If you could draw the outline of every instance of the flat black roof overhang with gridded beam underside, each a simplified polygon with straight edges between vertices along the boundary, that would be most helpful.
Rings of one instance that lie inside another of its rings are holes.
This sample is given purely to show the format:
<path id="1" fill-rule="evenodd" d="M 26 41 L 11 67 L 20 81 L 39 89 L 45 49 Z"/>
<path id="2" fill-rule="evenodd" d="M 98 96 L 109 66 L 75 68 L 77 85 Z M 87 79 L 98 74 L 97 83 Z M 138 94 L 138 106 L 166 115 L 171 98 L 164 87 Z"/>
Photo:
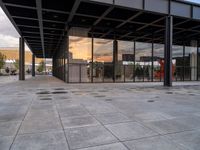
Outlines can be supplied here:
<path id="1" fill-rule="evenodd" d="M 164 43 L 165 16 L 174 16 L 173 42 L 200 39 L 200 5 L 179 0 L 0 0 L 36 57 L 52 58 L 70 28 L 87 36 Z"/>

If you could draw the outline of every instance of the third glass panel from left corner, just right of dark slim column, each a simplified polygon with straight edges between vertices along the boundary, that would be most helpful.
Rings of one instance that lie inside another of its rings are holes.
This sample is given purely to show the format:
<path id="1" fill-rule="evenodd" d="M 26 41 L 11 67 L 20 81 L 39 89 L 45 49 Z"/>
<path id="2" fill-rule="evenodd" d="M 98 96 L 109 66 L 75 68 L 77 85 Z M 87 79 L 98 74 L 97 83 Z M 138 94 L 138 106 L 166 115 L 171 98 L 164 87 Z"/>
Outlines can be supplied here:
<path id="1" fill-rule="evenodd" d="M 118 63 L 116 82 L 133 82 L 134 42 L 118 41 Z"/>

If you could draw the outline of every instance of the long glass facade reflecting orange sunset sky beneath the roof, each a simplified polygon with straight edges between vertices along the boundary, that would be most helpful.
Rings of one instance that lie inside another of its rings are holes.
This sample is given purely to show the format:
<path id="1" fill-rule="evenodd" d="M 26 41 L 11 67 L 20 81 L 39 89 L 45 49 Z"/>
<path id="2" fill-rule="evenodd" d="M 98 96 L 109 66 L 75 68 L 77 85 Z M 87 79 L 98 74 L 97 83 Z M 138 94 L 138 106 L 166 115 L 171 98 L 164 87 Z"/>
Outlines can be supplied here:
<path id="1" fill-rule="evenodd" d="M 57 53 L 54 74 L 69 83 L 161 82 L 164 44 L 69 36 Z M 69 44 L 67 44 L 69 43 Z M 65 51 L 65 55 L 63 55 Z M 66 59 L 64 59 L 66 58 Z M 64 69 L 65 67 L 65 69 Z M 62 74 L 65 74 L 63 77 Z M 173 81 L 200 79 L 200 48 L 173 45 Z"/>

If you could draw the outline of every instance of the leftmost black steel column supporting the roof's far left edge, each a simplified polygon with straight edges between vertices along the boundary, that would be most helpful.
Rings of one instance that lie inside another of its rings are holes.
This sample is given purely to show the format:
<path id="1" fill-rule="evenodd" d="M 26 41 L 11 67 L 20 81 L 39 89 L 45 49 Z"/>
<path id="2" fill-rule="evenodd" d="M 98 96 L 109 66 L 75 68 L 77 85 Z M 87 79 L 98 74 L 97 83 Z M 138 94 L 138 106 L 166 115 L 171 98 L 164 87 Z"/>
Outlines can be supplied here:
<path id="1" fill-rule="evenodd" d="M 24 52 L 24 38 L 19 38 L 19 80 L 25 80 L 25 52 Z"/>

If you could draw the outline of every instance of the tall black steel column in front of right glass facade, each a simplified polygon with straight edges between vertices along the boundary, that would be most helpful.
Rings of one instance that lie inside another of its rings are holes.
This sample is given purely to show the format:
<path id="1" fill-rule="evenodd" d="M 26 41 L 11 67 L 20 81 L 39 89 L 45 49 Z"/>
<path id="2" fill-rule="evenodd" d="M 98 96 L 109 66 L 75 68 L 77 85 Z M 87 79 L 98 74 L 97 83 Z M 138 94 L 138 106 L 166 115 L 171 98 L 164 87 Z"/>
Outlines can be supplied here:
<path id="1" fill-rule="evenodd" d="M 166 17 L 164 86 L 172 86 L 173 17 Z"/>

